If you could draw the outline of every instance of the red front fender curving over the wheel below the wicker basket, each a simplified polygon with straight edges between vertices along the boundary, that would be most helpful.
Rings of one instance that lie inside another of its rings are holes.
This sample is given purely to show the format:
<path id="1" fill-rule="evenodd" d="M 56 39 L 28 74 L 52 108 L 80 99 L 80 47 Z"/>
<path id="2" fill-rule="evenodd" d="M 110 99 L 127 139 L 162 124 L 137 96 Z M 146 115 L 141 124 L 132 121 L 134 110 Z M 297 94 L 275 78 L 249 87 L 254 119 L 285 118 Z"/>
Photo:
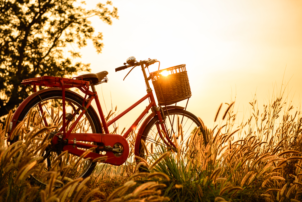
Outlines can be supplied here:
<path id="1" fill-rule="evenodd" d="M 181 106 L 166 106 L 166 107 L 162 107 L 162 110 L 165 112 L 168 109 L 185 109 L 185 107 L 181 107 Z M 134 144 L 134 155 L 139 156 L 140 155 L 140 151 L 139 151 L 139 147 L 140 147 L 140 140 L 142 138 L 142 133 L 145 130 L 147 124 L 149 123 L 149 121 L 151 119 L 153 119 L 154 116 L 156 115 L 156 112 L 152 112 L 149 116 L 147 116 L 147 118 L 143 121 L 142 125 L 140 126 L 140 129 L 138 130 L 136 139 L 135 139 L 135 144 Z M 135 160 L 137 161 L 138 159 L 135 158 Z"/>

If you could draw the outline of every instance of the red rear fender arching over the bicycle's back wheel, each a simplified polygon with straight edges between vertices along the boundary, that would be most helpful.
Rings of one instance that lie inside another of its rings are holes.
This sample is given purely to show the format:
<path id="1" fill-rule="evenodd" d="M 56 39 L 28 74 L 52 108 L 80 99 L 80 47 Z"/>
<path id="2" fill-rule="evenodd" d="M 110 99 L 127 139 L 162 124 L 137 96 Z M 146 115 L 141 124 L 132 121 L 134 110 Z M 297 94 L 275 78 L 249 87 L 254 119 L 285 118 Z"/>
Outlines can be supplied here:
<path id="1" fill-rule="evenodd" d="M 27 106 L 27 104 L 31 101 L 31 99 L 34 99 L 35 97 L 40 96 L 40 94 L 42 94 L 42 93 L 49 92 L 49 91 L 58 91 L 58 90 L 62 90 L 62 88 L 47 88 L 47 89 L 39 90 L 39 91 L 31 94 L 30 96 L 28 96 L 26 99 L 23 100 L 23 102 L 18 106 L 18 108 L 14 112 L 14 115 L 11 117 L 11 122 L 10 122 L 9 130 L 8 130 L 8 138 L 7 138 L 8 141 L 11 141 L 11 138 L 10 138 L 11 132 L 13 132 L 14 129 L 16 128 L 17 121 L 18 121 L 18 118 L 19 118 L 21 112 Z M 84 99 L 82 96 L 80 96 L 79 94 L 77 94 L 77 93 L 75 93 L 71 90 L 65 89 L 65 92 L 69 92 L 69 93 L 71 93 L 75 96 L 79 96 L 82 99 Z M 93 109 L 93 110 L 95 111 L 95 109 Z M 99 117 L 98 117 L 98 121 L 100 122 Z"/>

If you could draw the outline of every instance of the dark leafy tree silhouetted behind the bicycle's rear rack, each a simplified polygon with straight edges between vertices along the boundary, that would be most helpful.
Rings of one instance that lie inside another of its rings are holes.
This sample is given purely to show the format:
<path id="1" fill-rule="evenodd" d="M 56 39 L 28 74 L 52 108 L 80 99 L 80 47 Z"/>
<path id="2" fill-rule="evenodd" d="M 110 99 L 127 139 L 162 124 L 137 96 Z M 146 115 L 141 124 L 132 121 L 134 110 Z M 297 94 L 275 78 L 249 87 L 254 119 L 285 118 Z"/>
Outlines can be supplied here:
<path id="1" fill-rule="evenodd" d="M 0 0 L 0 117 L 31 93 L 21 85 L 23 79 L 89 71 L 89 64 L 72 63 L 79 53 L 64 57 L 64 47 L 83 47 L 92 40 L 101 53 L 102 33 L 95 34 L 88 18 L 98 16 L 112 24 L 111 18 L 118 16 L 117 8 L 108 9 L 110 1 L 92 10 L 83 5 L 76 0 Z"/>

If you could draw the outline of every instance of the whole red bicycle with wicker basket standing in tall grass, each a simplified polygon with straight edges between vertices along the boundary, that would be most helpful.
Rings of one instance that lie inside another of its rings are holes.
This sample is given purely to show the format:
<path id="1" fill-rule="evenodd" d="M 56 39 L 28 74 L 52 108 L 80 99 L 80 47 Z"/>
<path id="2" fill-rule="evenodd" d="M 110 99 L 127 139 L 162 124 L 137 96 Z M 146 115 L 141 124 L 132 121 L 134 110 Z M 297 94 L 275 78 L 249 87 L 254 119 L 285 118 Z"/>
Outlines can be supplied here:
<path id="1" fill-rule="evenodd" d="M 188 99 L 191 96 L 191 91 L 179 96 L 176 92 L 177 89 L 174 90 L 175 92 L 171 90 L 171 87 L 170 90 L 169 88 L 165 89 L 165 84 L 159 82 L 160 78 L 164 77 L 162 76 L 162 70 L 161 72 L 151 72 L 149 73 L 150 76 L 147 76 L 145 68 L 156 62 L 159 61 L 148 59 L 138 62 L 135 57 L 130 57 L 127 59 L 127 64 L 124 63 L 124 66 L 115 69 L 117 72 L 129 67 L 140 66 L 143 71 L 147 94 L 111 120 L 106 120 L 98 93 L 95 90 L 95 85 L 108 81 L 107 71 L 96 74 L 88 73 L 73 79 L 42 76 L 23 80 L 24 85 L 33 86 L 34 93 L 27 97 L 14 112 L 10 122 L 8 141 L 15 142 L 22 139 L 21 135 L 15 135 L 12 139 L 10 135 L 18 123 L 23 120 L 26 132 L 37 128 L 56 126 L 40 134 L 40 137 L 47 135 L 48 139 L 51 140 L 51 144 L 39 153 L 43 157 L 42 162 L 45 162 L 45 168 L 42 172 L 33 174 L 31 177 L 40 183 L 45 183 L 46 180 L 42 178 L 43 173 L 52 167 L 53 160 L 63 151 L 68 151 L 68 155 L 62 157 L 60 161 L 65 161 L 65 165 L 72 166 L 87 149 L 95 148 L 85 155 L 86 161 L 77 165 L 66 175 L 64 174 L 66 177 L 75 179 L 88 177 L 96 166 L 93 160 L 99 157 L 107 156 L 103 163 L 122 165 L 129 156 L 129 144 L 133 148 L 132 144 L 134 143 L 134 155 L 144 159 L 148 159 L 153 151 L 160 151 L 161 147 L 169 148 L 172 151 L 180 151 L 188 146 L 185 145 L 188 144 L 188 137 L 201 127 L 201 123 L 195 115 L 186 111 L 185 107 L 172 106 L 171 104 Z M 170 75 L 163 78 L 162 82 L 172 80 L 170 83 L 174 84 L 179 82 L 179 78 L 175 80 L 173 75 L 186 74 L 185 65 L 171 67 L 166 70 Z M 149 80 L 153 81 L 155 87 L 158 84 L 159 90 L 156 90 L 156 95 L 159 106 L 156 105 Z M 184 81 L 181 80 L 180 83 L 184 83 Z M 36 86 L 48 88 L 37 91 Z M 70 88 L 79 89 L 85 96 L 80 96 L 78 93 L 69 90 Z M 184 88 L 188 90 L 190 87 L 185 86 Z M 172 93 L 172 99 L 164 95 L 165 91 Z M 176 95 L 176 98 L 173 98 L 174 95 Z M 140 116 L 123 135 L 110 133 L 108 126 L 114 124 L 120 117 L 146 99 L 149 99 L 149 105 L 143 109 Z M 96 103 L 97 110 L 91 106 L 93 100 Z M 150 110 L 151 113 L 146 116 Z M 141 122 L 144 117 L 144 121 Z M 134 135 L 133 131 L 138 125 L 140 127 Z M 58 175 L 58 179 L 60 179 L 61 174 L 58 173 Z"/>

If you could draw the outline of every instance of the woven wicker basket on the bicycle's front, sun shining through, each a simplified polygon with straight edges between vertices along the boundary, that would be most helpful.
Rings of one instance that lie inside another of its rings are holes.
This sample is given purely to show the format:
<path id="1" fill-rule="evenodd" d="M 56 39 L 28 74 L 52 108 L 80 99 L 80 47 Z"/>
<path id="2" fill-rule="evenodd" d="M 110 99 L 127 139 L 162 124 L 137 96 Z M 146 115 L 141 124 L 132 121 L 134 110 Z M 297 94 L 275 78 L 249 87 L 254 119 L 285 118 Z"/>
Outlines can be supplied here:
<path id="1" fill-rule="evenodd" d="M 181 64 L 151 72 L 151 79 L 159 105 L 172 105 L 192 96 L 186 65 Z M 168 76 L 161 73 L 168 71 Z"/>

